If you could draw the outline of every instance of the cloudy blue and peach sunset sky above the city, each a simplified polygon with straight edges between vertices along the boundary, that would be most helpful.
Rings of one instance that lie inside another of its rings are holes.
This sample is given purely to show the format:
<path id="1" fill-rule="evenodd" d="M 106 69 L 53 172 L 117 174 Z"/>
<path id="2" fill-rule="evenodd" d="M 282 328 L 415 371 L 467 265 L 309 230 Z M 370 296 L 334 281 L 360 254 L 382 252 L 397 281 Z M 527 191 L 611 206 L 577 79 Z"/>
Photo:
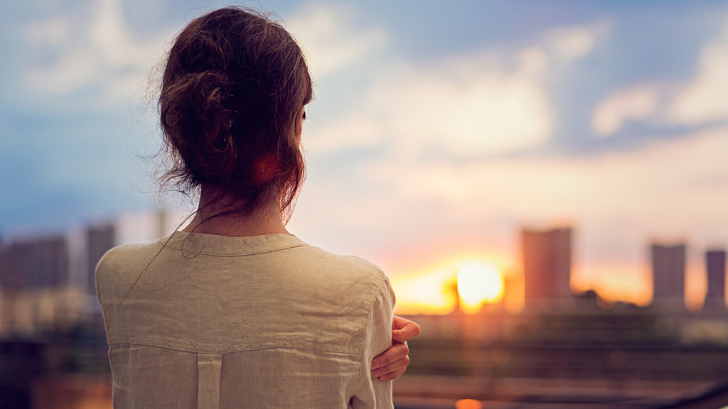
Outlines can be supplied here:
<path id="1" fill-rule="evenodd" d="M 1 237 L 191 209 L 154 186 L 154 81 L 175 33 L 228 4 L 0 4 Z M 728 246 L 728 2 L 245 5 L 314 77 L 293 234 L 434 312 L 468 263 L 518 282 L 523 227 L 572 226 L 572 289 L 642 305 L 649 242 L 684 241 L 702 302 L 703 253 Z"/>

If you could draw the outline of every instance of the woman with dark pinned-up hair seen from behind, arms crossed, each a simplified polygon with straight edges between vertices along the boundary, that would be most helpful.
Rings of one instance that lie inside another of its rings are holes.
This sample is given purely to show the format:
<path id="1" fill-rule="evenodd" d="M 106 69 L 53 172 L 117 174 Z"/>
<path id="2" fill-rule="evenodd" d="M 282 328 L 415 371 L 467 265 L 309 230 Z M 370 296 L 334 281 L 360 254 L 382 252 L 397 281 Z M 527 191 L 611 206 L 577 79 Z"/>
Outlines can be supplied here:
<path id="1" fill-rule="evenodd" d="M 163 180 L 199 188 L 199 207 L 183 231 L 98 264 L 114 408 L 392 407 L 419 327 L 392 325 L 379 268 L 285 229 L 311 98 L 301 49 L 256 12 L 218 9 L 178 34 Z"/>

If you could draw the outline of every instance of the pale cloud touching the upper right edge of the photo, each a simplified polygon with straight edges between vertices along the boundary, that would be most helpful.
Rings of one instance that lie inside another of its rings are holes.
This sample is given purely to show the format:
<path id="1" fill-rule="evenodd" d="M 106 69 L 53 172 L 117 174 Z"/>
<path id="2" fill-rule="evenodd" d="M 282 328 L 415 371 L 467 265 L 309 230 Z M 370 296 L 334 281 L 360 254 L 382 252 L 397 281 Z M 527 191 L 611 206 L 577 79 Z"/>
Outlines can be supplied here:
<path id="1" fill-rule="evenodd" d="M 728 120 L 728 20 L 716 39 L 700 52 L 695 76 L 670 103 L 673 121 L 695 125 Z"/>

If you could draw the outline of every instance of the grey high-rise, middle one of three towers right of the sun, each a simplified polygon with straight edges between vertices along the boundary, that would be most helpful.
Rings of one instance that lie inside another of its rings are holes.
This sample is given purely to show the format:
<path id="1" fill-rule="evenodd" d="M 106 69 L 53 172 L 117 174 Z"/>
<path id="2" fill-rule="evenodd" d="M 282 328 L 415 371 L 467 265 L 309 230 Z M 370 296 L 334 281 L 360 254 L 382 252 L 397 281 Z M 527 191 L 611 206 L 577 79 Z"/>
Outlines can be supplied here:
<path id="1" fill-rule="evenodd" d="M 685 244 L 652 243 L 652 303 L 660 308 L 684 309 Z"/>

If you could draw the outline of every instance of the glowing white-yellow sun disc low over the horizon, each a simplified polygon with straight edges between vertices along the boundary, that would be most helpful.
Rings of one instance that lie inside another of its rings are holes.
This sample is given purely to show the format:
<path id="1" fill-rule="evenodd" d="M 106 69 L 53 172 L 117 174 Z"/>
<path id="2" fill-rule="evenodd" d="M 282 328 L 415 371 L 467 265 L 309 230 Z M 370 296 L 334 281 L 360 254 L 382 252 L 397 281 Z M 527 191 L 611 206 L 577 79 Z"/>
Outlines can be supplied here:
<path id="1" fill-rule="evenodd" d="M 503 295 L 503 277 L 491 264 L 467 264 L 457 274 L 457 291 L 467 306 L 493 303 Z"/>

